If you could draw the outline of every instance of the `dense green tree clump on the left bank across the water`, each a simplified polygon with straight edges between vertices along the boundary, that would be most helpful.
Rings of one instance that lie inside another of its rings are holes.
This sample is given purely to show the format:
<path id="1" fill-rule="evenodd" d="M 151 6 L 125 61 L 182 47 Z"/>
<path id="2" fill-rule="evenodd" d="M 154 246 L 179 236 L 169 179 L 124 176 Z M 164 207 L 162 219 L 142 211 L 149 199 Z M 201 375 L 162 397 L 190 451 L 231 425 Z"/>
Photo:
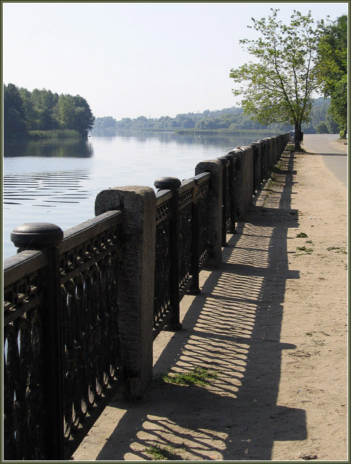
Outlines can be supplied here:
<path id="1" fill-rule="evenodd" d="M 70 129 L 86 136 L 93 128 L 94 120 L 88 103 L 79 95 L 59 96 L 46 89 L 34 89 L 30 92 L 27 89 L 18 89 L 14 84 L 4 86 L 5 137 L 18 137 L 19 134 L 27 136 L 27 131 L 32 133 L 32 137 L 32 131 L 37 131 L 36 136 L 41 137 L 43 134 L 39 134 L 40 131 L 58 129 Z"/>

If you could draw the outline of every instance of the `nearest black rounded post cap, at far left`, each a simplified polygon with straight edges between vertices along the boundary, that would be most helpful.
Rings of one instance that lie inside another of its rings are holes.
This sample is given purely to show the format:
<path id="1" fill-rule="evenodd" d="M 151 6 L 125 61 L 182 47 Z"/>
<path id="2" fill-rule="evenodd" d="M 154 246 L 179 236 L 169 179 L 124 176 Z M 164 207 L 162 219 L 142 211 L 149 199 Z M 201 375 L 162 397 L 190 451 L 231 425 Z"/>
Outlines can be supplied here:
<path id="1" fill-rule="evenodd" d="M 11 242 L 21 250 L 47 250 L 57 246 L 62 238 L 62 228 L 49 222 L 29 222 L 11 232 Z"/>

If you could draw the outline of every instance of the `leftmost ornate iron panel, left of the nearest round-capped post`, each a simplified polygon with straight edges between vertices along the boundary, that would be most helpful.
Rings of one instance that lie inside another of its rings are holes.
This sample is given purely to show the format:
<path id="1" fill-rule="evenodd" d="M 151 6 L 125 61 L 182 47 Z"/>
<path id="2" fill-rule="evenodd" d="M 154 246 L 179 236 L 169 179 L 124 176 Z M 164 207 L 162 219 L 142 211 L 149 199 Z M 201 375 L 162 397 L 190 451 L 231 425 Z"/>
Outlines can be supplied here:
<path id="1" fill-rule="evenodd" d="M 43 312 L 46 259 L 23 252 L 4 262 L 4 458 L 45 456 Z M 49 407 L 49 406 L 48 406 Z"/>

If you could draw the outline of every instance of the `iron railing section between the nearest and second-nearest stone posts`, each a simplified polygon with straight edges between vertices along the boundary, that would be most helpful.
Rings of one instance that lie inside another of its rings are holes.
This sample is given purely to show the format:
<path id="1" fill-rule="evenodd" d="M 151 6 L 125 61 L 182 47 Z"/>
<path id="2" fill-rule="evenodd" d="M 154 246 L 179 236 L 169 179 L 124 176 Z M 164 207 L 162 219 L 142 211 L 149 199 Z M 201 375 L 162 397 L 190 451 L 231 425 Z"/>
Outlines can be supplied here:
<path id="1" fill-rule="evenodd" d="M 208 256 L 206 211 L 211 174 L 155 181 L 157 193 L 154 338 L 166 327 L 181 328 L 179 304 L 199 291 L 199 272 Z"/>

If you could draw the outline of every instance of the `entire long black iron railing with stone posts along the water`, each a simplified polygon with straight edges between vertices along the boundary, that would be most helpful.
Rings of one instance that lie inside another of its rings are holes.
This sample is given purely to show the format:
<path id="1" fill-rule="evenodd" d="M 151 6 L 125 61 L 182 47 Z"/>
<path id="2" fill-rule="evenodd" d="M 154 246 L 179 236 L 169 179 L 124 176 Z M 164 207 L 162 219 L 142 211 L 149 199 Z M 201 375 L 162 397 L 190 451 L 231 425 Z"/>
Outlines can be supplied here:
<path id="1" fill-rule="evenodd" d="M 4 457 L 72 456 L 121 385 L 131 397 L 152 376 L 152 342 L 179 330 L 179 304 L 199 273 L 221 262 L 289 134 L 199 163 L 159 189 L 112 188 L 97 217 L 62 233 L 23 225 L 4 262 Z"/>

